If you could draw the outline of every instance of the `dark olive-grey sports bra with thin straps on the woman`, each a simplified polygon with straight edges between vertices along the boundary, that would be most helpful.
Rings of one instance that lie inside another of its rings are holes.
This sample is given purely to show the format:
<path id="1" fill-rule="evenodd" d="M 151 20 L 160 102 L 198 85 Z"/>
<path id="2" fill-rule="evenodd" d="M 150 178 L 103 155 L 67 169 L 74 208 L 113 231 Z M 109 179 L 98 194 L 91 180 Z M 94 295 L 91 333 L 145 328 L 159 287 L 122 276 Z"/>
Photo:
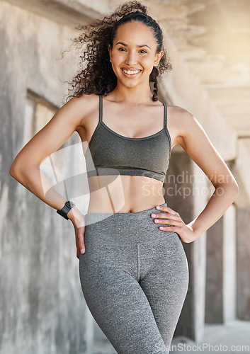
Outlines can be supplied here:
<path id="1" fill-rule="evenodd" d="M 103 96 L 99 96 L 99 121 L 86 149 L 87 176 L 147 176 L 164 182 L 171 155 L 171 137 L 166 126 L 147 137 L 124 137 L 103 122 Z"/>

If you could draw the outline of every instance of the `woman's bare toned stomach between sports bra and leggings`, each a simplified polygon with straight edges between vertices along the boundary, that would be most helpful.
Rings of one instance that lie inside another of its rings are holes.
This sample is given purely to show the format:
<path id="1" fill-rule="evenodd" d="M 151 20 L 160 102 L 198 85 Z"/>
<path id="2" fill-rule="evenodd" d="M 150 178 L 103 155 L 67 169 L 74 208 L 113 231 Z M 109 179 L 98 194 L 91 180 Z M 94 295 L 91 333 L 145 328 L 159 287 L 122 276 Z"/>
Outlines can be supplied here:
<path id="1" fill-rule="evenodd" d="M 165 202 L 163 183 L 145 176 L 91 176 L 89 212 L 140 212 Z"/>

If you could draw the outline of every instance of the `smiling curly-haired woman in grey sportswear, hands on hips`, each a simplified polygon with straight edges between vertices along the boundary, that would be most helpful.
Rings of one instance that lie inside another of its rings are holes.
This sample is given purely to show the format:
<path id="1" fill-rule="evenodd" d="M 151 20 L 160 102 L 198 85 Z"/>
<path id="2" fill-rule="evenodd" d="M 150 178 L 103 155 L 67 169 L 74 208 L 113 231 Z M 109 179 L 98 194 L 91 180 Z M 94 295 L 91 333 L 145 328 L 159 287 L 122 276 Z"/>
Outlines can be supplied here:
<path id="1" fill-rule="evenodd" d="M 146 6 L 125 3 L 79 29 L 84 34 L 76 42 L 88 45 L 87 66 L 73 80 L 76 92 L 23 147 L 10 173 L 72 221 L 86 304 L 115 350 L 169 353 L 188 290 L 181 240 L 190 243 L 211 227 L 234 202 L 238 186 L 193 115 L 158 101 L 157 76 L 171 64 Z M 48 184 L 39 169 L 74 131 L 89 145 L 85 216 L 57 192 L 53 200 L 45 197 L 42 184 Z M 215 186 L 189 224 L 162 195 L 176 144 Z"/>

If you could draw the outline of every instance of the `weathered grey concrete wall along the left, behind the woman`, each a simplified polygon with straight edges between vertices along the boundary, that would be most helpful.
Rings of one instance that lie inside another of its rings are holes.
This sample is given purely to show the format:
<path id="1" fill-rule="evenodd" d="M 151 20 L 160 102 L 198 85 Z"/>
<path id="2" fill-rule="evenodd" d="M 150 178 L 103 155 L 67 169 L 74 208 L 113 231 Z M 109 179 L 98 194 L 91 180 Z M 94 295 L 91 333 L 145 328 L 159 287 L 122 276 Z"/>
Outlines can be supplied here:
<path id="1" fill-rule="evenodd" d="M 76 64 L 70 53 L 58 59 L 71 35 L 67 26 L 0 2 L 1 354 L 85 353 L 74 228 L 8 172 L 25 140 L 27 90 L 62 105 L 62 81 Z M 75 142 L 76 133 L 69 145 Z"/>

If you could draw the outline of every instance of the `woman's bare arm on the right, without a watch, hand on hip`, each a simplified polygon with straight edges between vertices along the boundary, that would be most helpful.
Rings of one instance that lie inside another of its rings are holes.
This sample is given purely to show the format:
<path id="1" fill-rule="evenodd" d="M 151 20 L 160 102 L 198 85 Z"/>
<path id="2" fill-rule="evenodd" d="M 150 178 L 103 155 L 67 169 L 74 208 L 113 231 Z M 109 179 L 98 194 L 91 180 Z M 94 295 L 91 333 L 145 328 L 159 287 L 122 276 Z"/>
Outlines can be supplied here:
<path id="1" fill-rule="evenodd" d="M 206 207 L 189 224 L 185 224 L 178 212 L 170 207 L 159 209 L 166 212 L 166 214 L 159 214 L 164 219 L 166 218 L 166 221 L 160 220 L 160 223 L 173 225 L 172 227 L 163 227 L 163 229 L 177 232 L 184 242 L 189 243 L 198 239 L 203 232 L 222 217 L 237 198 L 239 187 L 227 164 L 210 142 L 198 120 L 183 108 L 181 108 L 178 120 L 181 126 L 178 143 L 191 156 L 195 164 L 203 170 L 215 187 Z M 157 215 L 157 217 L 160 216 Z"/>

